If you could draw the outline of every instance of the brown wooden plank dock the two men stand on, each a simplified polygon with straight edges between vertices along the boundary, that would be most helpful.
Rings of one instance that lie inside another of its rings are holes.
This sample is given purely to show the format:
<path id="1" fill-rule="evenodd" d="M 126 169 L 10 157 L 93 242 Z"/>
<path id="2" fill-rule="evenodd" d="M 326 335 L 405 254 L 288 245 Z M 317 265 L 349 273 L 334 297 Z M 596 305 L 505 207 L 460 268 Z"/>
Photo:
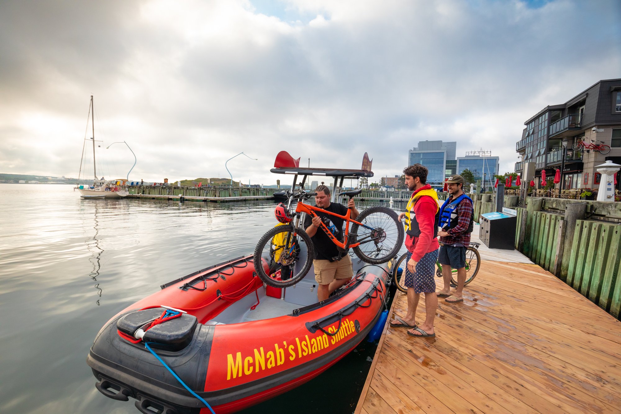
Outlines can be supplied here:
<path id="1" fill-rule="evenodd" d="M 464 293 L 436 338 L 387 325 L 356 413 L 621 411 L 620 321 L 533 264 L 483 260 Z M 406 309 L 398 293 L 391 318 Z"/>

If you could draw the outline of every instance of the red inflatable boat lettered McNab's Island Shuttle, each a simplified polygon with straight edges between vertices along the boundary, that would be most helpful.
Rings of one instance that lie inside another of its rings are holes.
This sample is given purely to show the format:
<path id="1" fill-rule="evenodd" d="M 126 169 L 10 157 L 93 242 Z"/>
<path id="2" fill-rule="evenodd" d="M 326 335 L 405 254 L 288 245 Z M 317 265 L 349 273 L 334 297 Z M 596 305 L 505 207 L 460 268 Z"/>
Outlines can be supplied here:
<path id="1" fill-rule="evenodd" d="M 392 261 L 352 261 L 355 277 L 321 303 L 312 270 L 292 287 L 265 287 L 252 256 L 162 285 L 97 334 L 87 358 L 96 387 L 135 398 L 143 413 L 210 413 L 145 343 L 217 414 L 297 387 L 353 350 L 384 310 Z"/>

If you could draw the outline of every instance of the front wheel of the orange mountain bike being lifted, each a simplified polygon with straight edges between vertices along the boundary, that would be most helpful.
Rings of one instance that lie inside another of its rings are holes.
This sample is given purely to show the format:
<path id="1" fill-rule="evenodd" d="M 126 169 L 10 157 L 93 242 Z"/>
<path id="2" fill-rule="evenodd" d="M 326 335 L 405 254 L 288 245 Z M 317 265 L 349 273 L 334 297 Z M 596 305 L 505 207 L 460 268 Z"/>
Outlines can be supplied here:
<path id="1" fill-rule="evenodd" d="M 256 274 L 273 287 L 295 285 L 311 270 L 313 249 L 311 237 L 304 230 L 290 224 L 276 226 L 263 234 L 255 247 Z"/>

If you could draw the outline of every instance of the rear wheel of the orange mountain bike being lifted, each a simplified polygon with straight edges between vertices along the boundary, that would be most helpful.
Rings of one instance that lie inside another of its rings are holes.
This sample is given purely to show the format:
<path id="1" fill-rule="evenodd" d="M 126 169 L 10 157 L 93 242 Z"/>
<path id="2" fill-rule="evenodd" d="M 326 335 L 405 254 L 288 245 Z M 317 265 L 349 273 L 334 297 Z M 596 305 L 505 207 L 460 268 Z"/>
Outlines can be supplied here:
<path id="1" fill-rule="evenodd" d="M 368 220 L 365 223 L 365 220 Z M 361 241 L 353 248 L 356 256 L 370 264 L 386 263 L 397 255 L 403 244 L 403 225 L 394 210 L 375 206 L 365 209 L 356 221 L 366 224 L 371 230 L 354 224 L 351 226 L 351 244 Z"/>

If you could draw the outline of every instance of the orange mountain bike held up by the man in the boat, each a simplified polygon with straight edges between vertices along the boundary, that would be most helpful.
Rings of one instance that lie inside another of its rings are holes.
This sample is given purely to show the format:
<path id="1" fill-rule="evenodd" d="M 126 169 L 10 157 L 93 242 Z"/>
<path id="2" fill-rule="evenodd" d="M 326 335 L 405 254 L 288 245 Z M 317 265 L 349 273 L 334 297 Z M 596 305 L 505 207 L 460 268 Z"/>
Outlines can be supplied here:
<path id="1" fill-rule="evenodd" d="M 345 191 L 339 195 L 351 199 L 361 191 Z M 337 246 L 341 256 L 347 254 L 351 247 L 364 262 L 381 264 L 388 262 L 399 252 L 403 243 L 404 228 L 399 216 L 392 209 L 381 206 L 367 208 L 360 213 L 357 220 L 354 220 L 351 219 L 349 208 L 347 214 L 341 216 L 302 202 L 315 195 L 317 193 L 286 191 L 287 205 L 276 207 L 276 217 L 282 224 L 263 234 L 256 245 L 254 255 L 256 274 L 268 285 L 273 287 L 294 285 L 311 269 L 314 247 L 311 237 L 304 231 L 303 214 L 309 214 L 312 218 L 317 216 L 315 211 L 320 211 L 345 221 L 342 241 L 337 239 L 323 221 L 317 229 L 327 234 L 330 241 Z M 296 211 L 289 213 L 294 201 L 297 201 Z M 264 260 L 268 264 L 267 271 L 263 266 Z"/>

